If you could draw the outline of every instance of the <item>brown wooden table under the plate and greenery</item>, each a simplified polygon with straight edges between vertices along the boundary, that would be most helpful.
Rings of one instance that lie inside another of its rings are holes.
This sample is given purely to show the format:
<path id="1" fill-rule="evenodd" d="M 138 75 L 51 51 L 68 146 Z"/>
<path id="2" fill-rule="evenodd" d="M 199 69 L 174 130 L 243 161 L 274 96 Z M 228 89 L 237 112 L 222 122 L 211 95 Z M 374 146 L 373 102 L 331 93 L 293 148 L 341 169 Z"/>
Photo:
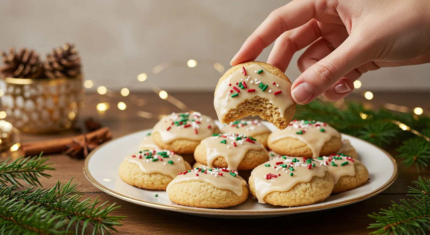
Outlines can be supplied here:
<path id="1" fill-rule="evenodd" d="M 191 109 L 216 118 L 212 104 L 212 92 L 173 95 L 187 104 Z M 125 100 L 127 108 L 123 111 L 118 110 L 116 107 L 116 103 L 120 100 L 110 100 L 103 97 L 102 99 L 105 100 L 101 102 L 111 102 L 110 109 L 100 114 L 95 109 L 96 104 L 100 103 L 100 100 L 94 100 L 94 98 L 98 98 L 97 96 L 97 94 L 87 95 L 86 100 L 89 102 L 83 108 L 80 120 L 88 116 L 93 116 L 104 126 L 111 128 L 114 137 L 126 135 L 141 129 L 152 128 L 157 122 L 156 119 L 144 119 L 137 116 L 137 110 L 157 114 L 169 114 L 180 111 L 172 104 L 166 102 L 166 100 L 161 100 L 155 94 L 142 94 L 138 97 L 129 98 L 134 100 L 143 99 L 143 101 L 139 101 L 140 105 L 144 104 L 143 106 L 138 107 Z M 376 97 L 381 97 L 381 99 L 386 98 L 390 103 L 400 105 L 414 103 L 413 106 L 415 107 L 429 108 L 427 100 L 429 100 L 430 94 L 424 92 L 411 92 L 402 95 L 396 93 L 375 93 L 375 99 Z M 359 99 L 358 96 L 354 95 L 351 95 L 351 98 Z M 381 101 L 375 100 L 373 103 L 381 103 Z M 44 136 L 24 135 L 23 141 L 59 138 L 68 135 L 77 134 L 69 132 Z M 388 150 L 390 151 L 390 149 Z M 390 152 L 393 153 L 393 151 Z M 128 217 L 124 221 L 123 226 L 117 227 L 120 234 L 277 234 L 278 232 L 276 231 L 285 226 L 288 226 L 287 231 L 289 234 L 368 234 L 372 230 L 366 229 L 366 227 L 369 226 L 369 223 L 375 221 L 369 218 L 367 214 L 379 211 L 380 208 L 389 207 L 392 200 L 398 201 L 400 198 L 405 198 L 408 186 L 412 186 L 411 181 L 418 179 L 419 175 L 414 167 L 405 169 L 405 167 L 400 165 L 399 177 L 390 188 L 365 201 L 335 209 L 270 219 L 210 219 L 137 206 L 122 201 L 100 191 L 85 178 L 82 170 L 84 160 L 76 160 L 60 154 L 50 157 L 49 162 L 55 162 L 53 166 L 57 171 L 49 172 L 52 175 L 51 179 L 41 179 L 43 186 L 49 188 L 57 181 L 67 182 L 73 177 L 73 181 L 79 183 L 79 190 L 85 193 L 84 197 L 100 197 L 102 201 L 108 200 L 111 203 L 116 202 L 121 205 L 122 207 L 116 210 L 114 214 L 126 215 Z M 430 178 L 430 168 L 422 171 L 420 175 Z M 330 221 L 336 221 L 336 225 L 331 225 Z"/>

